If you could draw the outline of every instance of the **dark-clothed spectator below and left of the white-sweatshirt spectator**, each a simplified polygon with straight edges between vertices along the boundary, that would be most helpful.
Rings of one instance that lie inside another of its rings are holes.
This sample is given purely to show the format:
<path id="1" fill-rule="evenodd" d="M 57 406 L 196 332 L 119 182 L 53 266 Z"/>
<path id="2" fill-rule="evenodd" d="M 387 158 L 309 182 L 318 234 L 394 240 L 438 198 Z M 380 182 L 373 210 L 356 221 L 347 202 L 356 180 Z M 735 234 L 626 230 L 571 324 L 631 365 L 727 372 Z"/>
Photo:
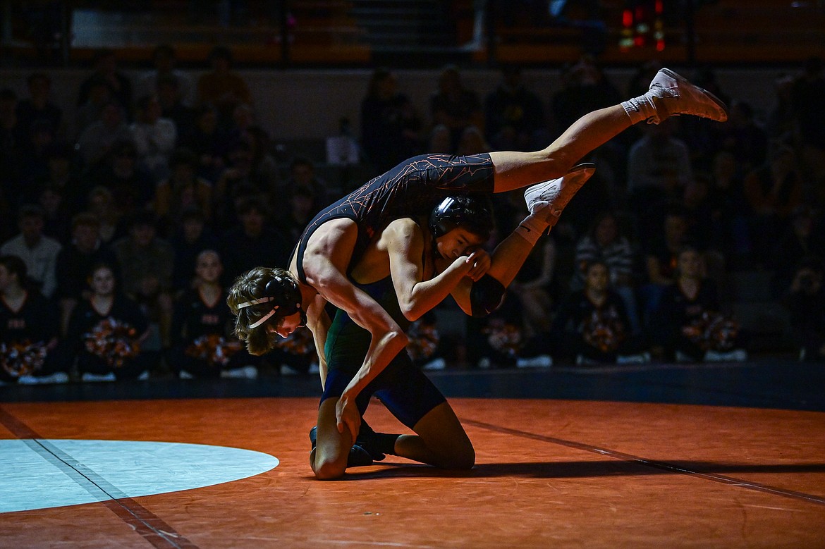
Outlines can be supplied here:
<path id="1" fill-rule="evenodd" d="M 120 215 L 147 209 L 155 195 L 155 182 L 138 164 L 138 151 L 131 139 L 123 139 L 111 146 L 105 162 L 101 162 L 89 175 L 93 185 L 111 190 L 115 208 Z"/>

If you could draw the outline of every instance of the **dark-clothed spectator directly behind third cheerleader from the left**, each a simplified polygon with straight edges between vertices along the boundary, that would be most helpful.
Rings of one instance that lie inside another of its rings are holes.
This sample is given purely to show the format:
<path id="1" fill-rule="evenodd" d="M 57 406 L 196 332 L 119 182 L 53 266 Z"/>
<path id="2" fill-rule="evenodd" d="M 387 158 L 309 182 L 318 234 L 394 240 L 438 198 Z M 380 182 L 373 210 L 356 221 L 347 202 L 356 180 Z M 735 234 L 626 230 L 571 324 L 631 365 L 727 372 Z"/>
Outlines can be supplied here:
<path id="1" fill-rule="evenodd" d="M 175 266 L 172 269 L 172 289 L 176 295 L 194 287 L 192 278 L 198 254 L 204 250 L 218 248 L 218 239 L 206 223 L 204 211 L 195 204 L 181 210 L 179 223 L 172 232 L 170 243 L 175 251 Z"/>

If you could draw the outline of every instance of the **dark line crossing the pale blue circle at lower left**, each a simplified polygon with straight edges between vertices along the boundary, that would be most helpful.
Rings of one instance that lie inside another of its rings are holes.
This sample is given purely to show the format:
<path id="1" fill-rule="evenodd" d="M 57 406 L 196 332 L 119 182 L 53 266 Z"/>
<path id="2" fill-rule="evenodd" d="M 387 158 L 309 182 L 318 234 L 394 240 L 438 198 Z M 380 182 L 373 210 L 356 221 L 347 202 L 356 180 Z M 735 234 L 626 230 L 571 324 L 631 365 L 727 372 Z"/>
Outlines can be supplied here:
<path id="1" fill-rule="evenodd" d="M 80 476 L 88 483 L 97 487 L 98 490 L 110 495 L 111 500 L 104 500 L 100 503 L 106 505 L 106 508 L 111 510 L 115 516 L 134 528 L 134 531 L 143 536 L 153 547 L 158 547 L 158 549 L 168 549 L 169 547 L 173 547 L 174 549 L 197 549 L 198 546 L 186 537 L 181 536 L 181 534 L 177 533 L 174 528 L 165 523 L 158 515 L 153 514 L 152 511 L 146 509 L 137 501 L 127 496 L 115 498 L 114 495 L 111 495 L 111 491 L 117 490 L 114 486 L 111 486 L 114 490 L 106 490 L 103 486 L 100 486 L 102 479 L 101 481 L 92 481 L 87 472 L 79 471 L 78 468 L 73 467 L 65 459 L 60 458 L 59 455 L 57 455 L 57 453 L 60 453 L 57 448 L 46 443 L 40 434 L 37 434 L 34 429 L 31 429 L 31 427 L 23 423 L 15 415 L 4 410 L 2 406 L 0 406 L 0 424 L 18 439 L 33 439 L 33 442 L 36 444 L 30 445 L 30 448 L 40 453 L 40 455 L 48 461 L 53 462 L 64 472 L 67 470 L 73 472 L 72 475 L 69 475 L 73 481 L 78 482 L 77 477 Z M 82 482 L 78 482 L 78 484 L 82 484 Z"/>

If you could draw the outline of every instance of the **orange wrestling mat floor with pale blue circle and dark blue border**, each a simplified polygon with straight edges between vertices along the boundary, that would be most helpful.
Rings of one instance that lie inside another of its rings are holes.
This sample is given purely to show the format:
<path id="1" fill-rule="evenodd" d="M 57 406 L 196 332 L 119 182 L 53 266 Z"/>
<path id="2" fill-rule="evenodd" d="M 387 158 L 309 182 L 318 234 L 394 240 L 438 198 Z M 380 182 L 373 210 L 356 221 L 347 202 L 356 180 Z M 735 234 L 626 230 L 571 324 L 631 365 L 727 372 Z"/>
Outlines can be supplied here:
<path id="1" fill-rule="evenodd" d="M 821 364 L 431 377 L 471 472 L 315 481 L 309 376 L 0 387 L 0 547 L 825 547 Z"/>

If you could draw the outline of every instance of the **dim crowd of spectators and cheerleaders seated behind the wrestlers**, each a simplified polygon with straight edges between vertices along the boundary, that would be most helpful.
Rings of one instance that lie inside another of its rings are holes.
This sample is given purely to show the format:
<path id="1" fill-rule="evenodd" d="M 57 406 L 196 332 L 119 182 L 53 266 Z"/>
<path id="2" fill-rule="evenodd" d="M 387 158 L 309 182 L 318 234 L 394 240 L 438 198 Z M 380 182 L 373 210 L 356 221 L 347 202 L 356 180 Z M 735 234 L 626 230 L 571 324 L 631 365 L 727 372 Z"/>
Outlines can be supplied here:
<path id="1" fill-rule="evenodd" d="M 224 292 L 249 268 L 285 265 L 304 224 L 338 198 L 314 174 L 323 159 L 276 161 L 229 49 L 199 78 L 169 46 L 153 63 L 133 79 L 101 51 L 75 91 L 71 135 L 48 73 L 31 73 L 27 96 L 0 90 L 0 382 L 255 377 L 262 364 L 314 362 L 300 331 L 275 354 L 246 354 Z M 639 95 L 657 69 L 620 90 L 585 56 L 544 101 L 517 67 L 481 96 L 450 66 L 423 113 L 376 69 L 362 162 L 378 175 L 423 152 L 544 148 L 578 116 Z M 747 333 L 724 284 L 741 269 L 771 273 L 801 355 L 825 358 L 822 61 L 778 79 L 764 120 L 712 71 L 695 76 L 728 102 L 728 123 L 640 124 L 593 152 L 596 175 L 499 311 L 468 319 L 467 345 L 450 346 L 465 352 L 450 355 L 428 317 L 422 364 L 742 359 Z M 496 234 L 508 234 L 521 193 L 493 199 Z"/>

